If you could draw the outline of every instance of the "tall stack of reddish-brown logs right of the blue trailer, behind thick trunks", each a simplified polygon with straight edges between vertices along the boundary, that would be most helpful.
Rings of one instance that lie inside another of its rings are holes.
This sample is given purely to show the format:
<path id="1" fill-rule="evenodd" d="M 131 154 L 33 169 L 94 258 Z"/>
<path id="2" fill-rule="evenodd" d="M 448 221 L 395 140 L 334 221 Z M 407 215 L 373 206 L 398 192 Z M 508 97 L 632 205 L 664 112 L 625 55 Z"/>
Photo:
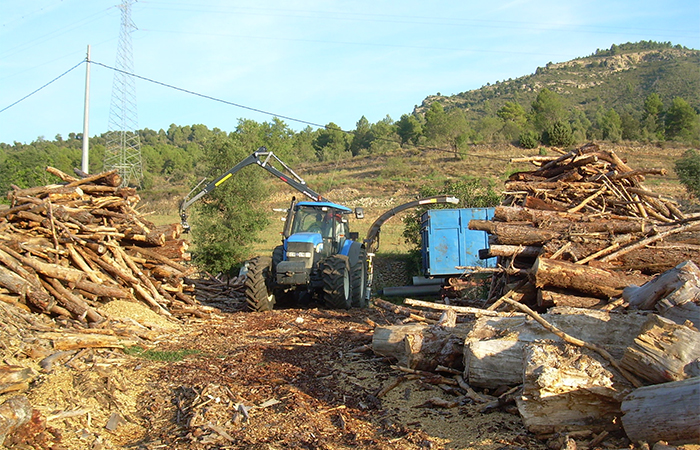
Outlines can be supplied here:
<path id="1" fill-rule="evenodd" d="M 509 297 L 540 309 L 602 307 L 625 287 L 692 260 L 700 263 L 700 217 L 642 185 L 645 174 L 614 152 L 588 144 L 530 172 L 513 174 L 486 231 L 501 276 L 490 300 Z"/>

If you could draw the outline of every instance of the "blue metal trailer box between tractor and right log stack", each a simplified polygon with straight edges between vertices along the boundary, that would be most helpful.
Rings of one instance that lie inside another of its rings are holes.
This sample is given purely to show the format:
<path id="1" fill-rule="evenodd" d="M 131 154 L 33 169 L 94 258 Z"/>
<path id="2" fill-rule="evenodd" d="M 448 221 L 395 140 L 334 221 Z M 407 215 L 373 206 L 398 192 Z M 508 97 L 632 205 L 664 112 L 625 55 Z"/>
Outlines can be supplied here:
<path id="1" fill-rule="evenodd" d="M 495 267 L 496 258 L 480 259 L 489 248 L 485 231 L 470 230 L 472 219 L 491 220 L 494 208 L 431 209 L 421 217 L 423 274 L 458 276 L 456 267 Z"/>

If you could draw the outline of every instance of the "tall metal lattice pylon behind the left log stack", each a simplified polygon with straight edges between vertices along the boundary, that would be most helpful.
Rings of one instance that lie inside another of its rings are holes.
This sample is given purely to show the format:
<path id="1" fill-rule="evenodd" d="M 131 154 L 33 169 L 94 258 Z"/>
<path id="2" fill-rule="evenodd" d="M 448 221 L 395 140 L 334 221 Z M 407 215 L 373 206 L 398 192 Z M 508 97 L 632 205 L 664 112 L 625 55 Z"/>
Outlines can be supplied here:
<path id="1" fill-rule="evenodd" d="M 134 86 L 134 59 L 131 32 L 136 29 L 131 20 L 131 4 L 124 0 L 119 46 L 117 48 L 117 71 L 112 83 L 112 102 L 109 108 L 109 131 L 105 148 L 105 170 L 116 169 L 122 177 L 122 185 L 141 183 L 141 142 L 137 134 L 136 88 Z"/>

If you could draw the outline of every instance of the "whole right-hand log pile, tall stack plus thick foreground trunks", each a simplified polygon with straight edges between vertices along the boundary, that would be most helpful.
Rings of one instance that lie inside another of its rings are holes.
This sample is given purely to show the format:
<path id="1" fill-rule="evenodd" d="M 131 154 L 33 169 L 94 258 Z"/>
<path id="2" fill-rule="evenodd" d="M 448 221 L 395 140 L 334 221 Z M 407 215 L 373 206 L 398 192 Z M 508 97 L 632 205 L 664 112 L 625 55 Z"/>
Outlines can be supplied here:
<path id="1" fill-rule="evenodd" d="M 663 171 L 595 144 L 537 163 L 506 182 L 493 220 L 469 223 L 489 235 L 480 256 L 498 258 L 488 299 L 407 299 L 458 320 L 402 306 L 412 319 L 378 327 L 374 351 L 455 371 L 462 395 L 508 392 L 497 406 L 514 402 L 531 432 L 567 448 L 620 430 L 633 444 L 700 443 L 700 215 L 642 185 Z"/>

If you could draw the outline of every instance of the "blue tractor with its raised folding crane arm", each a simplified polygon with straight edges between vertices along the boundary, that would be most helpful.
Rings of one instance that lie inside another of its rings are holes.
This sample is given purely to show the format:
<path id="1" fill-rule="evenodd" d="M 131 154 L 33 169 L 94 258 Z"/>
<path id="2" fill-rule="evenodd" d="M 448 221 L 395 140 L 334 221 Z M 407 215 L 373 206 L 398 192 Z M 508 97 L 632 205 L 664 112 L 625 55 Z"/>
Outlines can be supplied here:
<path id="1" fill-rule="evenodd" d="M 274 167 L 273 160 L 289 174 Z M 183 200 L 180 217 L 185 231 L 190 228 L 187 208 L 251 164 L 264 168 L 312 201 L 293 199 L 287 210 L 282 244 L 275 247 L 271 256 L 257 256 L 246 262 L 248 309 L 269 311 L 276 303 L 311 300 L 334 309 L 366 307 L 367 253 L 358 233 L 350 232 L 347 220 L 353 213 L 363 218 L 362 209 L 353 211 L 328 201 L 265 147 L 209 183 L 194 197 Z"/>

